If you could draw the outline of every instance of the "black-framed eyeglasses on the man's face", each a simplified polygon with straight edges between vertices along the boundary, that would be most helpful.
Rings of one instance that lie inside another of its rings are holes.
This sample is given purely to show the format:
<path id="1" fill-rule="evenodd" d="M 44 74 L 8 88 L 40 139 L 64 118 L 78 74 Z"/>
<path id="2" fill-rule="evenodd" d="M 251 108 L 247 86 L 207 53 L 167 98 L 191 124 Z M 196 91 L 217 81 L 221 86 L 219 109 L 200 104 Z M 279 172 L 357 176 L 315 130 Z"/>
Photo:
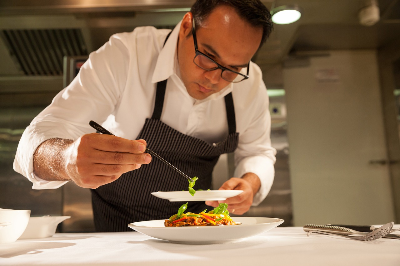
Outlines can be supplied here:
<path id="1" fill-rule="evenodd" d="M 196 66 L 200 67 L 201 69 L 207 70 L 207 71 L 212 71 L 215 69 L 221 69 L 221 77 L 225 79 L 226 81 L 229 82 L 240 82 L 244 79 L 249 78 L 249 66 L 250 62 L 247 65 L 247 73 L 246 75 L 239 73 L 237 71 L 234 71 L 232 69 L 226 68 L 224 66 L 221 66 L 214 60 L 212 60 L 210 57 L 206 56 L 202 52 L 198 50 L 197 47 L 197 38 L 196 38 L 196 29 L 194 28 L 194 18 L 192 18 L 192 23 L 193 23 L 193 28 L 192 28 L 192 35 L 193 35 L 193 42 L 194 42 L 194 51 L 196 52 L 196 55 L 194 56 L 193 63 L 196 64 Z"/>

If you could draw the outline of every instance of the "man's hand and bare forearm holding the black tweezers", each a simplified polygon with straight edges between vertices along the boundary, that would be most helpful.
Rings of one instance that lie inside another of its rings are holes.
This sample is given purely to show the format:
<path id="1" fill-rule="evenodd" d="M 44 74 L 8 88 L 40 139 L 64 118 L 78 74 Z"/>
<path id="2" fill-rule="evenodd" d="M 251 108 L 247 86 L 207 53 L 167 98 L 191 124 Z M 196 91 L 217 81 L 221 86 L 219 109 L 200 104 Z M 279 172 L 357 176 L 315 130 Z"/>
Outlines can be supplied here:
<path id="1" fill-rule="evenodd" d="M 44 180 L 72 180 L 80 187 L 96 189 L 150 163 L 145 149 L 144 140 L 98 133 L 82 135 L 75 141 L 49 139 L 34 154 L 34 173 Z"/>

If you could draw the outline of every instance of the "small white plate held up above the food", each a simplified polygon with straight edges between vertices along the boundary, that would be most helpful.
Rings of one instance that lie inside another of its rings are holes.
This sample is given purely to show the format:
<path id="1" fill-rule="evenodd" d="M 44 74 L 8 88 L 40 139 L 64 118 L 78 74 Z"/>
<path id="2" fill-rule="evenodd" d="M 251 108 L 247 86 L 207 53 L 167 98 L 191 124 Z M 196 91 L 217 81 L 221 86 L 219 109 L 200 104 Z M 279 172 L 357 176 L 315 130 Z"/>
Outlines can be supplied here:
<path id="1" fill-rule="evenodd" d="M 242 193 L 242 190 L 200 190 L 194 195 L 189 191 L 158 191 L 152 192 L 153 196 L 169 201 L 203 201 L 203 200 L 226 200 Z"/>

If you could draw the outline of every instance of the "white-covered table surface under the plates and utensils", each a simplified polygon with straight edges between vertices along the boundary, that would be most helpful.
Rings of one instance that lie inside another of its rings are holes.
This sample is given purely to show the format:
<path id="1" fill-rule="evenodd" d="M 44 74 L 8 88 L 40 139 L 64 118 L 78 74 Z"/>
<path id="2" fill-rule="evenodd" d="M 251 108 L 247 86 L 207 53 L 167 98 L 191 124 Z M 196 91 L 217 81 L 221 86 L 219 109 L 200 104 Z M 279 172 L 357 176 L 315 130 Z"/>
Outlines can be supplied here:
<path id="1" fill-rule="evenodd" d="M 394 226 L 399 228 L 400 225 Z M 189 236 L 190 237 L 190 236 Z M 174 244 L 139 232 L 58 233 L 0 244 L 0 265 L 400 265 L 400 240 L 360 241 L 277 227 L 226 244 Z"/>

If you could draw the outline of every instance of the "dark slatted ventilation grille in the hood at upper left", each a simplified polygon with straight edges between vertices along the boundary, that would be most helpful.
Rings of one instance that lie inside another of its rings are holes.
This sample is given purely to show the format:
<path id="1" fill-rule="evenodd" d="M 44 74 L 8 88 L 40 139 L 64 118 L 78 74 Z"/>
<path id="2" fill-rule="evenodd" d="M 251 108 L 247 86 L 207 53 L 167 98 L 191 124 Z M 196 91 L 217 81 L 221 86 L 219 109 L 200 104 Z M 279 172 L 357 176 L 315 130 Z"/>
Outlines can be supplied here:
<path id="1" fill-rule="evenodd" d="M 86 56 L 80 29 L 2 30 L 22 75 L 62 75 L 64 56 Z"/>

